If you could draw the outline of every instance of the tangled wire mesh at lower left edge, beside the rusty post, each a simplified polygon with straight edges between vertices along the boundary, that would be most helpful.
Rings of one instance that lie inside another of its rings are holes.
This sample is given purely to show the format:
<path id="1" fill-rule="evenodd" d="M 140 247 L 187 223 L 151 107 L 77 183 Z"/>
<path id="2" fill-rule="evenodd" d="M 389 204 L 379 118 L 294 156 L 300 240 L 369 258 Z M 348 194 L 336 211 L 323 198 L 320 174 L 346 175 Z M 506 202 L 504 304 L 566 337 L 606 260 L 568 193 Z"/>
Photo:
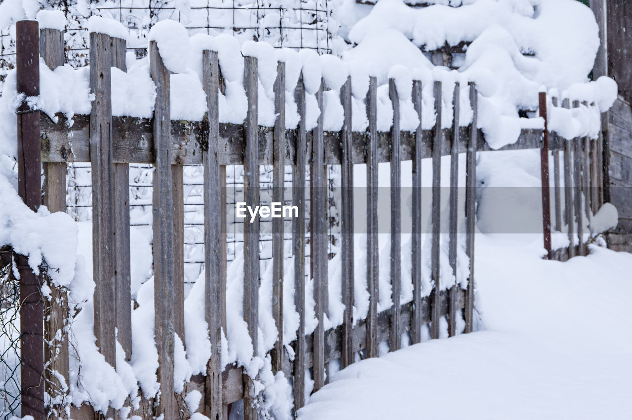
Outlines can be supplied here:
<path id="1" fill-rule="evenodd" d="M 0 250 L 0 419 L 20 414 L 20 288 L 11 249 Z"/>

